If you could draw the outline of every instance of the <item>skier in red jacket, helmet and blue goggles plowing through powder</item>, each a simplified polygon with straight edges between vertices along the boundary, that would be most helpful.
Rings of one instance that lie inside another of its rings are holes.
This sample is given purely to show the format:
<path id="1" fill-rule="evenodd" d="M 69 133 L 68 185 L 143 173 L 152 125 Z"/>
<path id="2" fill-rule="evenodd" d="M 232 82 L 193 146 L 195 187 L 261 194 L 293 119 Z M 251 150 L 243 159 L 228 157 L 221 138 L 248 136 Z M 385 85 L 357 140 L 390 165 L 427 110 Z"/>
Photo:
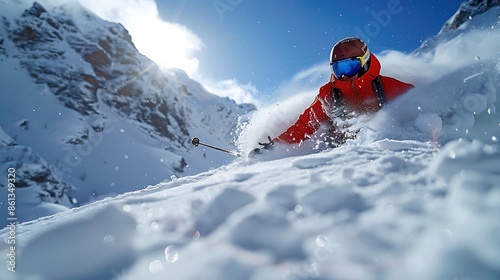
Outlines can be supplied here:
<path id="1" fill-rule="evenodd" d="M 319 89 L 319 94 L 297 121 L 269 143 L 259 143 L 269 149 L 274 143 L 298 144 L 327 126 L 329 142 L 333 146 L 355 138 L 346 133 L 334 119 L 352 114 L 369 114 L 394 100 L 414 86 L 397 79 L 380 75 L 380 62 L 366 43 L 356 37 L 348 37 L 336 43 L 330 53 L 330 81 Z M 255 149 L 251 154 L 259 153 Z"/>

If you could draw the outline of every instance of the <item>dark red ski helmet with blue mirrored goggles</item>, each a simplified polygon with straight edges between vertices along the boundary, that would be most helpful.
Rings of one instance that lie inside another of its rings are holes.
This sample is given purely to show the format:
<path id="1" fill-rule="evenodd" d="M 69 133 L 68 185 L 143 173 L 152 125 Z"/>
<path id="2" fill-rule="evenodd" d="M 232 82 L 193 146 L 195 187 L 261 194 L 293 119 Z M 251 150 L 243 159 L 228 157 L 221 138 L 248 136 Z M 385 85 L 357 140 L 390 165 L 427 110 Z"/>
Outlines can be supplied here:
<path id="1" fill-rule="evenodd" d="M 330 66 L 338 79 L 353 77 L 368 70 L 370 50 L 368 45 L 356 37 L 337 42 L 330 52 Z"/>

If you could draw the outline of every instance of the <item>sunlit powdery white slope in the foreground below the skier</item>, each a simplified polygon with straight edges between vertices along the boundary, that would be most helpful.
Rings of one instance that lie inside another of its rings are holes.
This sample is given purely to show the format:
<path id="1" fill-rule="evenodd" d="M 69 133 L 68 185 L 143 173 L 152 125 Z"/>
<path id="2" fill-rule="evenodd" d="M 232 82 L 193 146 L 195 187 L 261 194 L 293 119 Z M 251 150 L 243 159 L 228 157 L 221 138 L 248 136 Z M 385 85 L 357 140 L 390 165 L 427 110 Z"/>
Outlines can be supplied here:
<path id="1" fill-rule="evenodd" d="M 16 273 L 0 277 L 499 279 L 498 14 L 380 55 L 417 88 L 357 119 L 357 140 L 276 147 L 6 228 L 0 261 Z"/>

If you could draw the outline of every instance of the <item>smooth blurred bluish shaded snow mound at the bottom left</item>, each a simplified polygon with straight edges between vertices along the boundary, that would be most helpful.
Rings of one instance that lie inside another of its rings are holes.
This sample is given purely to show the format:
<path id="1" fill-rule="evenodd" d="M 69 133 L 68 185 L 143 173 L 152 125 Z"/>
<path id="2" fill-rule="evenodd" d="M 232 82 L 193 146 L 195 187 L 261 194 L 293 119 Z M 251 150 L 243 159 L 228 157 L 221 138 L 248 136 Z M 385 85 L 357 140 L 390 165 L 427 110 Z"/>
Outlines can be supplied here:
<path id="1" fill-rule="evenodd" d="M 113 271 L 133 263 L 137 257 L 133 247 L 135 219 L 112 205 L 100 208 L 82 217 L 64 219 L 32 237 L 20 252 L 20 276 L 110 279 Z"/>

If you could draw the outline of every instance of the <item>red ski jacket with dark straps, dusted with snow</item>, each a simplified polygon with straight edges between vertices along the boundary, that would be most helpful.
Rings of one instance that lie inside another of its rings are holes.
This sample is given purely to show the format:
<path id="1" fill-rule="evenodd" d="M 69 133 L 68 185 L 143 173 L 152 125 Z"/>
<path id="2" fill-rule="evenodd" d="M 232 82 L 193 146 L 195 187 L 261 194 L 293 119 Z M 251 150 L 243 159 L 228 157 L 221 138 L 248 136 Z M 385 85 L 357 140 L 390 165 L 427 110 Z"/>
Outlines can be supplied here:
<path id="1" fill-rule="evenodd" d="M 335 129 L 329 112 L 332 112 L 339 102 L 348 110 L 356 113 L 373 113 L 382 104 L 395 99 L 414 86 L 380 75 L 380 61 L 370 53 L 370 67 L 366 73 L 354 81 L 334 80 L 319 89 L 319 94 L 311 105 L 299 116 L 298 120 L 285 132 L 274 139 L 278 143 L 300 143 L 322 124 L 329 124 Z"/>

